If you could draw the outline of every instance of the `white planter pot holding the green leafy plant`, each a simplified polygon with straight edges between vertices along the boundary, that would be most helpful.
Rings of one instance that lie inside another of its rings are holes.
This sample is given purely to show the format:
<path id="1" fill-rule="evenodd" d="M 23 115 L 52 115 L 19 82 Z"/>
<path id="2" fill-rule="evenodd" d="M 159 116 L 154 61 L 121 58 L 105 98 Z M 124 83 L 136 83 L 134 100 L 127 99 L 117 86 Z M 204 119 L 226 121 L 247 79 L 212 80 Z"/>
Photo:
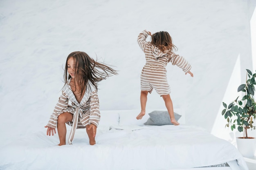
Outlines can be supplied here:
<path id="1" fill-rule="evenodd" d="M 256 138 L 236 138 L 237 149 L 244 157 L 254 157 L 256 151 Z"/>

